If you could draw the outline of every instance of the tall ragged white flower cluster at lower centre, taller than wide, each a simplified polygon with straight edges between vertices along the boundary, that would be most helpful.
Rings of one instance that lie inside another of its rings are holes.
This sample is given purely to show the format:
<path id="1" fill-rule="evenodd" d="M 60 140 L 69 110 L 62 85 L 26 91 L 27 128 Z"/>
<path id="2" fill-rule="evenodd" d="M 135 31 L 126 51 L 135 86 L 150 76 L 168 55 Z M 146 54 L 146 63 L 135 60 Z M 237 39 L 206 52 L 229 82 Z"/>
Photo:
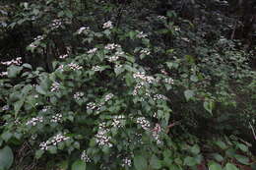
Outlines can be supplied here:
<path id="1" fill-rule="evenodd" d="M 106 128 L 105 122 L 98 125 L 98 131 L 96 133 L 96 143 L 99 146 L 106 145 L 108 147 L 113 146 L 113 144 L 110 142 L 111 138 L 107 136 L 107 133 L 109 132 L 109 129 Z"/>

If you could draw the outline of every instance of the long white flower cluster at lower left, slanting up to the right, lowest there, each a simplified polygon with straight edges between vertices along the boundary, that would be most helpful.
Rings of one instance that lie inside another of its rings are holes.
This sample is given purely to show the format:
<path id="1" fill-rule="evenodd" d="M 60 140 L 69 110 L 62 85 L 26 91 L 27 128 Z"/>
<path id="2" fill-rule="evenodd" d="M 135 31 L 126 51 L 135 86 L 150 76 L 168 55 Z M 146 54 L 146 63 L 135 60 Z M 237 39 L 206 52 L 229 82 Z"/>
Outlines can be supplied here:
<path id="1" fill-rule="evenodd" d="M 65 137 L 62 133 L 59 133 L 56 136 L 54 136 L 51 140 L 48 140 L 46 142 L 41 142 L 39 144 L 39 147 L 42 150 L 47 150 L 50 145 L 57 145 L 58 142 L 64 142 L 69 139 L 70 139 L 69 137 Z"/>

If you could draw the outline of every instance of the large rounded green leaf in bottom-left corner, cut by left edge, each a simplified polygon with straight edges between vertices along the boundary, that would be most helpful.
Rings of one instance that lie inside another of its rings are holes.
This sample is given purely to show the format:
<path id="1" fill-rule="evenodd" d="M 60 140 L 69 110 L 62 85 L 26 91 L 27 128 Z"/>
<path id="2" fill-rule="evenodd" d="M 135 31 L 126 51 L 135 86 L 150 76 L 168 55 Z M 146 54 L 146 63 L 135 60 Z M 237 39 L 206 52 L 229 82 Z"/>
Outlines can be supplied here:
<path id="1" fill-rule="evenodd" d="M 0 169 L 9 169 L 14 161 L 14 155 L 11 147 L 8 145 L 0 149 Z"/>

